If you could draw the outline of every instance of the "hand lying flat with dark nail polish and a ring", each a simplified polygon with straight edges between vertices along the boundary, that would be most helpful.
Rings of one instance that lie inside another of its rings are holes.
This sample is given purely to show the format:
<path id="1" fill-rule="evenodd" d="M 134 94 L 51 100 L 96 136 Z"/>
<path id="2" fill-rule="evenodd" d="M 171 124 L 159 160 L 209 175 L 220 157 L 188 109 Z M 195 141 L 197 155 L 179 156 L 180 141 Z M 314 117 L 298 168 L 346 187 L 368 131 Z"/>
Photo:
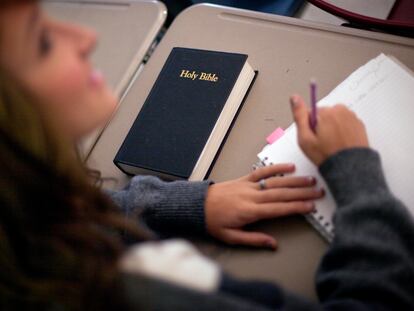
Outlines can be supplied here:
<path id="1" fill-rule="evenodd" d="M 323 190 L 314 187 L 313 177 L 276 176 L 294 170 L 292 164 L 272 165 L 211 185 L 205 203 L 208 232 L 228 244 L 275 249 L 277 243 L 272 236 L 243 227 L 262 219 L 313 211 L 313 200 L 323 196 Z M 259 184 L 262 179 L 265 189 Z"/>

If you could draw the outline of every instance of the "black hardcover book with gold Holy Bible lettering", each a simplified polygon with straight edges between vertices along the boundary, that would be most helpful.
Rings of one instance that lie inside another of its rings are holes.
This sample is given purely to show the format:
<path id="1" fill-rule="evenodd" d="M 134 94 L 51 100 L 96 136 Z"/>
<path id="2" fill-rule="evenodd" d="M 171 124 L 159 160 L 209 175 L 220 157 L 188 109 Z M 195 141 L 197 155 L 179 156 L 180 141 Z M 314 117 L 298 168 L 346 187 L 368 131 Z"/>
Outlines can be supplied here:
<path id="1" fill-rule="evenodd" d="M 254 80 L 247 58 L 173 48 L 114 163 L 130 175 L 204 179 Z"/>

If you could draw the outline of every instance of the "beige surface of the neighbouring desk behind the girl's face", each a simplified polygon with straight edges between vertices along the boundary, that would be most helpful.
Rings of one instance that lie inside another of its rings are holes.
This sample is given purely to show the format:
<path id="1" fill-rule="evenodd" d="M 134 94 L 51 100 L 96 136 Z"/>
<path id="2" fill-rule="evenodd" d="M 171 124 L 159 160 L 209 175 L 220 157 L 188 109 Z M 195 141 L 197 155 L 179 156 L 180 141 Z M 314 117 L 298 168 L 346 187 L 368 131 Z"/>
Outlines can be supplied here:
<path id="1" fill-rule="evenodd" d="M 165 6 L 158 1 L 49 0 L 43 5 L 51 16 L 97 32 L 92 62 L 118 97 L 124 94 L 167 17 Z M 83 141 L 82 154 L 88 154 L 100 132 Z"/>

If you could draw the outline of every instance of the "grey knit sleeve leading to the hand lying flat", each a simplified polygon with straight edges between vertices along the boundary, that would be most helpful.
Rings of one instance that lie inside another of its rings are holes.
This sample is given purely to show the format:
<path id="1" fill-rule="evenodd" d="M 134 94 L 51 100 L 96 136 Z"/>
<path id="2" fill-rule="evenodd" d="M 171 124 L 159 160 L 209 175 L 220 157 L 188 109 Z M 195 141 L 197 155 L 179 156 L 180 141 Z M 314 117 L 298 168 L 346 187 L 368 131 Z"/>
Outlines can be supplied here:
<path id="1" fill-rule="evenodd" d="M 126 217 L 142 221 L 155 232 L 205 233 L 204 202 L 210 184 L 135 176 L 125 189 L 106 193 Z"/>

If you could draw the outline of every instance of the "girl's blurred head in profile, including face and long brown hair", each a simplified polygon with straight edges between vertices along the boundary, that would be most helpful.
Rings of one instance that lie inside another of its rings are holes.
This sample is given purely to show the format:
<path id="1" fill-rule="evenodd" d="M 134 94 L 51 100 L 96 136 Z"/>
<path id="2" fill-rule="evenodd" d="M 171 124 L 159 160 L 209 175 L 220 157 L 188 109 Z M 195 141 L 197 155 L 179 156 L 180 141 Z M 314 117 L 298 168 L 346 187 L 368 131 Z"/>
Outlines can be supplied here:
<path id="1" fill-rule="evenodd" d="M 122 234 L 149 235 L 88 183 L 70 148 L 105 122 L 116 101 L 89 63 L 93 33 L 49 19 L 35 1 L 5 2 L 0 309 L 102 310 L 118 275 Z"/>

